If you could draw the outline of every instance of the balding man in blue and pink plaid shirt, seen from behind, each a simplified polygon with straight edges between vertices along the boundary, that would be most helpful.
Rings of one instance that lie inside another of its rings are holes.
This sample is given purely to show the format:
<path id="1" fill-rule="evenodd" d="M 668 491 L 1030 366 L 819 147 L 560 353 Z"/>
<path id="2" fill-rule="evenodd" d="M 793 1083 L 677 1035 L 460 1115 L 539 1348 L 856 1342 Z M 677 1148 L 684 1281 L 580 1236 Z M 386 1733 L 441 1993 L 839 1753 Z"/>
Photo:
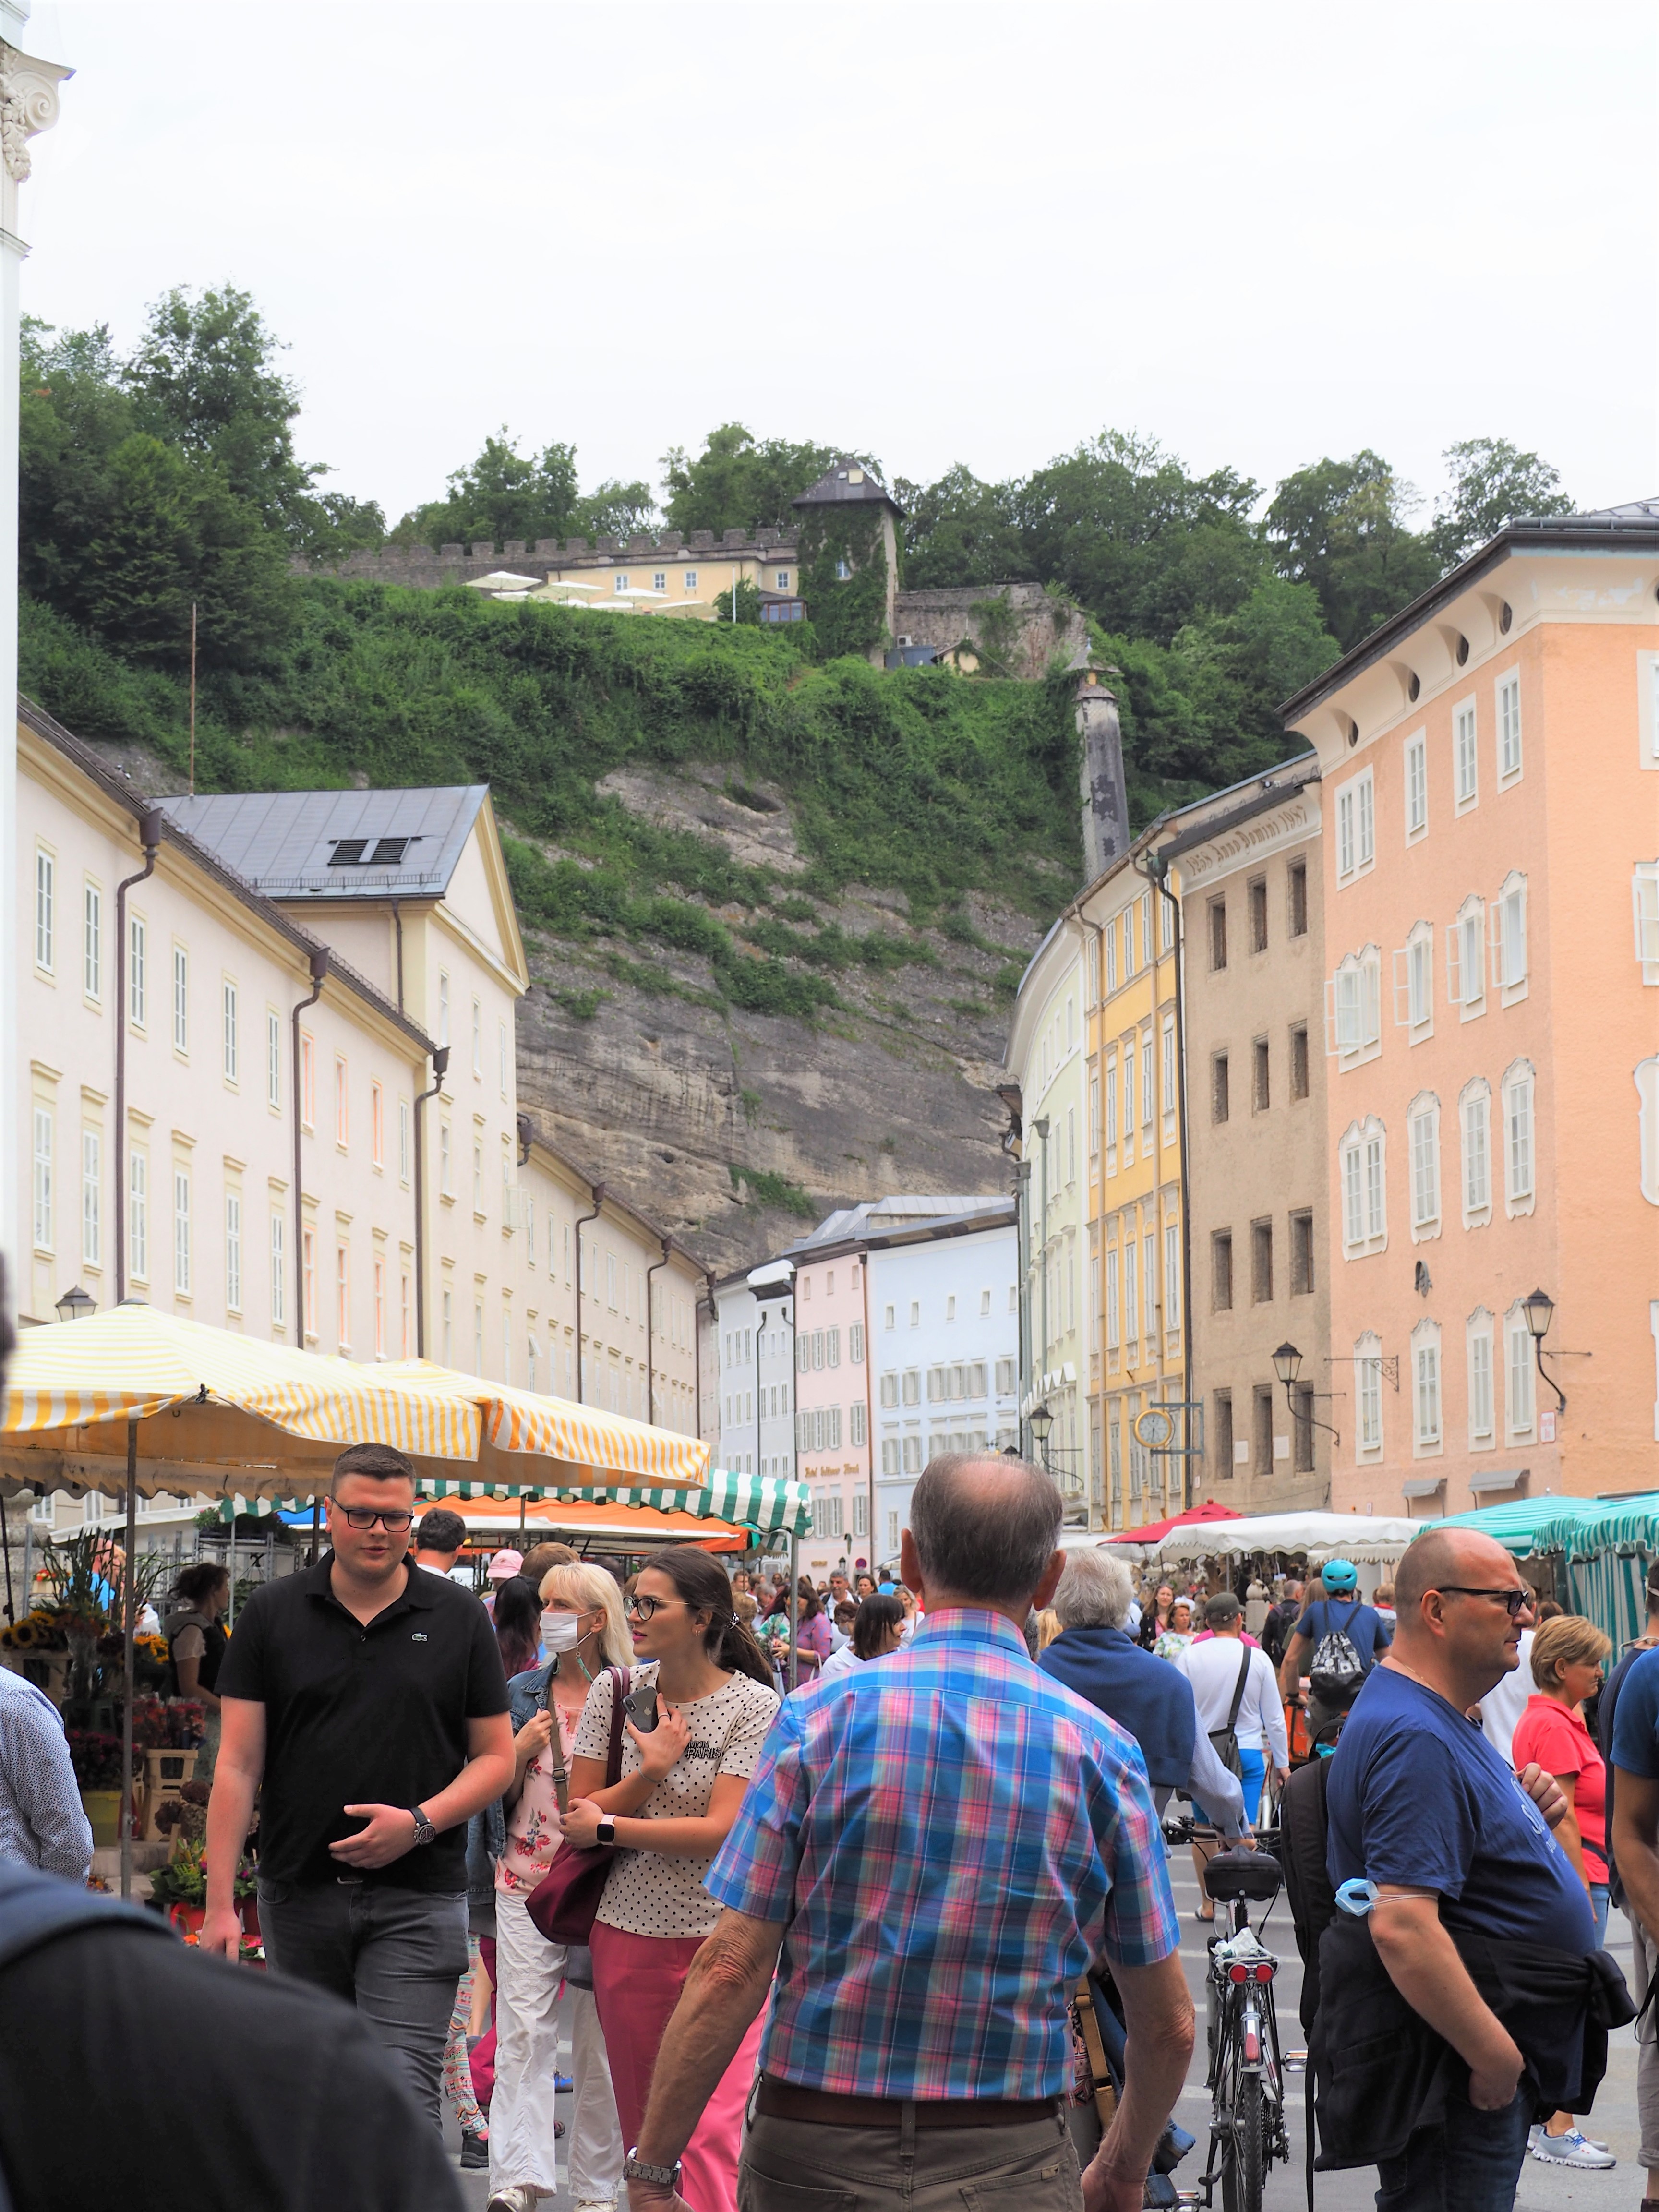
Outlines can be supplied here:
<path id="1" fill-rule="evenodd" d="M 1057 1535 L 1035 1467 L 945 1458 L 916 1484 L 902 1573 L 927 1617 L 772 1725 L 706 1876 L 726 1911 L 657 2057 L 630 2212 L 681 2205 L 675 2161 L 768 1989 L 743 2212 L 960 2212 L 964 2183 L 1020 2212 L 1139 2208 L 1192 2004 L 1141 1754 L 1026 1657 Z M 1102 1944 L 1135 2066 L 1079 2181 L 1066 1997 Z"/>

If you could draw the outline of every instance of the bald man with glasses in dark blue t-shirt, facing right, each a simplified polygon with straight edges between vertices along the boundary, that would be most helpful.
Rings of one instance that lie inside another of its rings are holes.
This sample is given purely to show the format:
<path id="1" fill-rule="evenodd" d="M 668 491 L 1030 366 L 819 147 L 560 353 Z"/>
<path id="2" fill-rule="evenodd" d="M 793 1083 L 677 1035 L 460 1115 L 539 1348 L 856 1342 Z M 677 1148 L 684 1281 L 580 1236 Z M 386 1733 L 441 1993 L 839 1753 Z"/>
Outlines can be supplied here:
<path id="1" fill-rule="evenodd" d="M 1451 1931 L 1588 1958 L 1595 1924 L 1551 1836 L 1566 1809 L 1555 1781 L 1528 1767 L 1517 1783 L 1467 1719 L 1515 1668 L 1531 1626 L 1515 1562 L 1471 1528 L 1433 1531 L 1405 1553 L 1394 1590 L 1394 1650 L 1367 1674 L 1332 1756 L 1325 1863 L 1334 1885 L 1376 1885 L 1376 1953 L 1467 2062 L 1469 2090 L 1378 2161 L 1376 2201 L 1378 2212 L 1511 2212 L 1535 2093 Z"/>

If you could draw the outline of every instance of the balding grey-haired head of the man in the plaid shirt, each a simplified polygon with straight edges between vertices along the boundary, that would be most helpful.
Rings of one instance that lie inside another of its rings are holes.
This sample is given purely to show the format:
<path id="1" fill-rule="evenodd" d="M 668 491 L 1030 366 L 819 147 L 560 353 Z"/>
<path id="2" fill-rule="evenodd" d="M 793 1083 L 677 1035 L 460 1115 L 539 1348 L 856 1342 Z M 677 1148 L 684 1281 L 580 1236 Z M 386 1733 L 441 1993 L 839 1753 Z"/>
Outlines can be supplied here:
<path id="1" fill-rule="evenodd" d="M 909 1528 L 922 1573 L 940 1590 L 1024 1606 L 1060 1542 L 1060 1491 L 1029 1460 L 947 1451 L 911 1491 Z"/>

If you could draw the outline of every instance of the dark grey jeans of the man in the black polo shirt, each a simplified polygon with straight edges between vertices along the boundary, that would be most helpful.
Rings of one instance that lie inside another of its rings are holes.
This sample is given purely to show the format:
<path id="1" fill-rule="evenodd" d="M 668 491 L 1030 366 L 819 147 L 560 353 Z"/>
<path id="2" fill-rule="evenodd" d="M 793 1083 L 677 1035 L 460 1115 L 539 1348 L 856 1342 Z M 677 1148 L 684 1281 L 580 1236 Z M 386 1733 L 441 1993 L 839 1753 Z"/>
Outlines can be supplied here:
<path id="1" fill-rule="evenodd" d="M 467 1891 L 389 1882 L 261 1882 L 265 1958 L 354 2004 L 434 2128 L 456 1982 L 467 1971 Z"/>

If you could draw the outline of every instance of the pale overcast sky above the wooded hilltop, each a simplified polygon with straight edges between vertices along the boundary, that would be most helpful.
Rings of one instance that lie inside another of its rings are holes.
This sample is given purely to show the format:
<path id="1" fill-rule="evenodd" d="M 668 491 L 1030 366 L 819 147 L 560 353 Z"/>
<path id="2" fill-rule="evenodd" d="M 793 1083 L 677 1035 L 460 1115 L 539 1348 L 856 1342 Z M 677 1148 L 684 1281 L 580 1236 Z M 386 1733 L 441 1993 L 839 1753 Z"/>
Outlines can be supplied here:
<path id="1" fill-rule="evenodd" d="M 303 458 L 396 518 L 507 422 L 584 484 L 721 420 L 1026 471 L 1102 427 L 1272 484 L 1453 438 L 1659 491 L 1659 13 L 35 7 L 24 307 L 237 283 Z"/>

